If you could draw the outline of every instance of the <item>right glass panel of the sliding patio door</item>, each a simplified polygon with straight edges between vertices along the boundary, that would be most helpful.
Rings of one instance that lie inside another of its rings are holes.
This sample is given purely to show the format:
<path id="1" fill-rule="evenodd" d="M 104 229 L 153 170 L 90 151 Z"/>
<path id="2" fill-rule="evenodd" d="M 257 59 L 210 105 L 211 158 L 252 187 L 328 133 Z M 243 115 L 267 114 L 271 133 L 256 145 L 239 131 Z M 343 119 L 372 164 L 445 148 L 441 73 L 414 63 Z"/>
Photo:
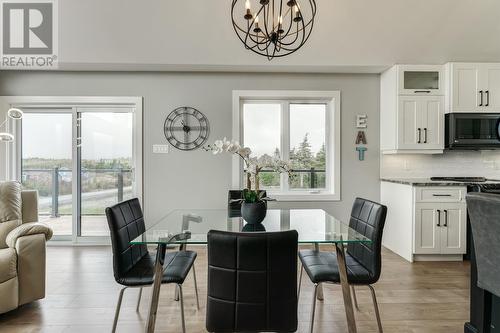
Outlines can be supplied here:
<path id="1" fill-rule="evenodd" d="M 81 235 L 106 236 L 105 209 L 133 197 L 132 113 L 81 113 Z"/>

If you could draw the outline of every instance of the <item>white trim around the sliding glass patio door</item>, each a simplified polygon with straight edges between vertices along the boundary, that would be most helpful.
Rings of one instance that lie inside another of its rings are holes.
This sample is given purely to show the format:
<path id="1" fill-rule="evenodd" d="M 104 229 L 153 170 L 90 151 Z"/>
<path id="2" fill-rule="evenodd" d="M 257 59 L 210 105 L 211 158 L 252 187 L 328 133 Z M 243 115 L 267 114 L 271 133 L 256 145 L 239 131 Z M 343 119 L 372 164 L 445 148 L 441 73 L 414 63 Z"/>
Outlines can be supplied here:
<path id="1" fill-rule="evenodd" d="M 0 105 L 7 107 L 18 107 L 20 109 L 24 108 L 66 108 L 72 109 L 76 112 L 78 108 L 92 107 L 96 109 L 106 110 L 107 107 L 113 106 L 123 106 L 127 108 L 134 109 L 134 126 L 133 126 L 133 136 L 134 136 L 134 146 L 133 156 L 134 156 L 134 169 L 136 175 L 136 193 L 139 198 L 142 207 L 144 205 L 144 156 L 143 156 L 143 98 L 142 97 L 128 97 L 128 96 L 0 96 Z M 6 179 L 16 179 L 21 180 L 21 166 L 18 163 L 19 157 L 21 156 L 21 145 L 20 135 L 21 135 L 21 123 L 16 121 L 8 121 L 8 131 L 12 133 L 15 137 L 13 143 L 7 145 L 6 151 Z M 73 134 L 73 140 L 75 139 L 75 134 Z M 76 141 L 73 142 L 76 144 Z M 76 161 L 76 156 L 73 156 L 73 160 Z M 74 185 L 75 186 L 75 185 Z M 75 214 L 75 212 L 73 212 Z M 75 219 L 73 219 L 75 223 Z M 63 237 L 64 238 L 64 237 Z M 72 244 L 109 244 L 110 240 L 108 236 L 83 236 L 76 237 L 76 235 L 71 236 Z"/>

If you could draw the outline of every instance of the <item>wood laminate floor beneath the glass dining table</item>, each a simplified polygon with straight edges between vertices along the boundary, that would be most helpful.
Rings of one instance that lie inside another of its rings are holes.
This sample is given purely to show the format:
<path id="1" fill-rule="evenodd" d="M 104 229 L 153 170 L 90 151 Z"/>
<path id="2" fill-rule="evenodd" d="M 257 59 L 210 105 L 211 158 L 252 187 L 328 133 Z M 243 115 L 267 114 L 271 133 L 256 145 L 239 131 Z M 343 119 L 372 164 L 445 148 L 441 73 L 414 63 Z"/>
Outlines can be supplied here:
<path id="1" fill-rule="evenodd" d="M 205 332 L 207 261 L 204 247 L 196 268 L 200 311 L 196 310 L 190 275 L 184 283 L 188 332 Z M 327 248 L 322 248 L 327 249 Z M 459 333 L 469 317 L 469 264 L 426 262 L 410 264 L 390 251 L 383 251 L 383 269 L 375 285 L 386 333 Z M 307 332 L 312 286 L 304 276 L 299 300 L 299 332 Z M 113 280 L 109 247 L 48 247 L 47 296 L 15 311 L 0 315 L 0 332 L 110 332 L 120 287 Z M 125 291 L 118 332 L 142 332 L 149 306 L 145 289 L 136 313 L 138 289 Z M 174 287 L 162 286 L 157 332 L 180 332 Z M 360 312 L 358 332 L 377 332 L 369 291 L 357 289 Z M 315 332 L 347 332 L 339 286 L 325 286 L 325 300 L 316 308 Z"/>

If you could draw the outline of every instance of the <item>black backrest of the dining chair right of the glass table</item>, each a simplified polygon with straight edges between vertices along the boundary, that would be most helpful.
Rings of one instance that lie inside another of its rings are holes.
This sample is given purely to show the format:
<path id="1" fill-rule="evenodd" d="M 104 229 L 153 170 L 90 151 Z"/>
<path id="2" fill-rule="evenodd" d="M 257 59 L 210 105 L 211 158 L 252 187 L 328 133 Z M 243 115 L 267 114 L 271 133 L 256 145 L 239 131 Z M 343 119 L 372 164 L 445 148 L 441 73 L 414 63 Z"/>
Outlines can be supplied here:
<path id="1" fill-rule="evenodd" d="M 371 239 L 371 243 L 349 243 L 347 252 L 370 272 L 370 284 L 378 281 L 382 270 L 382 233 L 386 215 L 384 205 L 362 198 L 354 200 L 349 226 Z"/>

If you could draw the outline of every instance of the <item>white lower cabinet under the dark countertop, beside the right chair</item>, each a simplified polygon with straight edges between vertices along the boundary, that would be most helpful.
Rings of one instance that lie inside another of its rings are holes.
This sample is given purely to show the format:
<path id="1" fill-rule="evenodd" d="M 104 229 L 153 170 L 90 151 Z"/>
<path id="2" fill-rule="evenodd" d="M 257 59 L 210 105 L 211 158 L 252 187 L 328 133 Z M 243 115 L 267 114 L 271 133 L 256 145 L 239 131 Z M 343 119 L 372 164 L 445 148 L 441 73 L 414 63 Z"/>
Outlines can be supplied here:
<path id="1" fill-rule="evenodd" d="M 381 183 L 387 206 L 382 244 L 406 260 L 454 261 L 466 253 L 465 186 Z"/>

